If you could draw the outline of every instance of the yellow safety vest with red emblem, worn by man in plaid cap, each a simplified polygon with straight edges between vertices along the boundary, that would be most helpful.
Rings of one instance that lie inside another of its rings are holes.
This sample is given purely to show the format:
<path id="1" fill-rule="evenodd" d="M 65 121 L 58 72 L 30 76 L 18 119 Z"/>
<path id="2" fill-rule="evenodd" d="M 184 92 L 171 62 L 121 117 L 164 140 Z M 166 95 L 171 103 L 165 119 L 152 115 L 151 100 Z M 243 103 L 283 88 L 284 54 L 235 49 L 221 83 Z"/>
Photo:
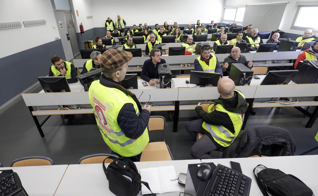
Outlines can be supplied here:
<path id="1" fill-rule="evenodd" d="M 133 98 L 118 89 L 100 84 L 99 80 L 92 82 L 88 96 L 97 126 L 110 149 L 123 157 L 140 154 L 149 142 L 147 127 L 138 139 L 129 139 L 117 123 L 118 113 L 122 106 L 127 103 L 133 104 L 136 114 L 139 115 L 137 104 Z"/>

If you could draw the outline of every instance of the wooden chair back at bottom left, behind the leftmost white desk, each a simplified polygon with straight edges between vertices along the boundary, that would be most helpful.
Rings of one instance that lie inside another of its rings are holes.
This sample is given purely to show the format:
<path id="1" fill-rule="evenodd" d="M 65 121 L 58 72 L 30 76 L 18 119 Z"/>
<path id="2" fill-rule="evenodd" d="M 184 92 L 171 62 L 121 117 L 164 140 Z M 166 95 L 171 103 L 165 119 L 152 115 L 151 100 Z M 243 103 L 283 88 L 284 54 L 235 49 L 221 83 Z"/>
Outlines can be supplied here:
<path id="1" fill-rule="evenodd" d="M 12 161 L 10 167 L 22 167 L 22 166 L 51 166 L 55 165 L 54 161 L 48 157 L 43 156 L 31 156 L 15 159 Z"/>

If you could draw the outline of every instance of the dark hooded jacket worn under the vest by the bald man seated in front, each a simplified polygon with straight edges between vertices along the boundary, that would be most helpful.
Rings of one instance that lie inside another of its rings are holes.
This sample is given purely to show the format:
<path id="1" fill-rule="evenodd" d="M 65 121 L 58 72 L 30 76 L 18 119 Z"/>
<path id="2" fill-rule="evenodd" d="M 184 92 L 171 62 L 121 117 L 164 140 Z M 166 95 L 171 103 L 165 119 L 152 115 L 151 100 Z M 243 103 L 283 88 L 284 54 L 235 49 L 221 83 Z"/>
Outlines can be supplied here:
<path id="1" fill-rule="evenodd" d="M 234 97 L 229 99 L 224 99 L 219 97 L 218 99 L 213 100 L 214 105 L 221 104 L 225 110 L 229 112 L 235 112 L 238 114 L 244 114 L 247 110 L 247 102 L 245 98 L 243 98 L 238 92 L 234 91 Z M 211 125 L 219 125 L 224 126 L 227 128 L 230 132 L 234 133 L 234 125 L 232 123 L 231 118 L 229 115 L 225 112 L 220 111 L 213 111 L 210 113 L 205 112 L 201 106 L 197 106 L 195 108 L 197 114 L 200 118 L 204 120 L 204 122 L 209 123 Z M 209 136 L 209 138 L 212 140 L 212 142 L 218 147 L 221 148 L 222 146 L 219 145 L 211 136 L 211 134 L 207 131 L 205 131 L 205 134 Z"/>

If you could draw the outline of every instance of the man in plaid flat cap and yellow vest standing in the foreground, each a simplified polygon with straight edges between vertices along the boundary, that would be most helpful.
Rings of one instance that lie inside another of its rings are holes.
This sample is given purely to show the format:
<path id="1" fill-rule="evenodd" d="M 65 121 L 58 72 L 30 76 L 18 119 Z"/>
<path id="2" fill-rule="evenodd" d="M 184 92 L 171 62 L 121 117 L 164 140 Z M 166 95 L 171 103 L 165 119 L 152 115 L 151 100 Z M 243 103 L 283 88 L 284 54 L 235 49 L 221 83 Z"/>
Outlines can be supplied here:
<path id="1" fill-rule="evenodd" d="M 134 93 L 121 86 L 130 52 L 107 50 L 101 57 L 103 75 L 88 90 L 97 126 L 112 154 L 140 161 L 149 142 L 150 105 L 142 107 Z"/>

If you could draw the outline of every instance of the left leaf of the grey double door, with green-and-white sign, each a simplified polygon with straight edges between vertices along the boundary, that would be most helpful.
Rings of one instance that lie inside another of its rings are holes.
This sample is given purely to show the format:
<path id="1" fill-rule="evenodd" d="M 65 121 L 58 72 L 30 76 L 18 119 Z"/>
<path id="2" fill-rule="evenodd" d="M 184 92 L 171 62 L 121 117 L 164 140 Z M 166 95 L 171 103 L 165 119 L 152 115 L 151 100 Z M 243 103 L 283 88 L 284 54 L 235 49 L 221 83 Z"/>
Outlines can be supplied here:
<path id="1" fill-rule="evenodd" d="M 65 60 L 70 61 L 74 58 L 74 55 L 72 51 L 71 41 L 68 40 L 68 37 L 67 37 L 69 33 L 67 31 L 67 25 L 66 25 L 66 20 L 64 17 L 64 12 L 54 11 L 54 16 L 55 16 L 57 28 L 59 29 L 59 35 L 61 37 L 62 46 L 63 46 L 64 54 L 66 57 Z M 60 26 L 60 23 L 62 23 L 62 27 Z"/>

